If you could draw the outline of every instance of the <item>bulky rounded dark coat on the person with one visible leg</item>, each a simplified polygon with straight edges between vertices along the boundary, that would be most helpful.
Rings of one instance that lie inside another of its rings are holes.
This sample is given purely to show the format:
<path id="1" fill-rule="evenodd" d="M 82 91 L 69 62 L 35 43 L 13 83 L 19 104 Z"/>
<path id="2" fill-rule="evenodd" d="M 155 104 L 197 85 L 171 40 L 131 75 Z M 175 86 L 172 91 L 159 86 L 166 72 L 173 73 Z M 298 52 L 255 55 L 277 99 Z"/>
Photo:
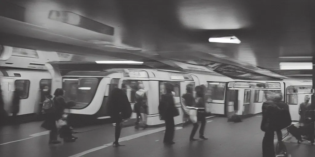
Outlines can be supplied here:
<path id="1" fill-rule="evenodd" d="M 108 113 L 114 121 L 127 119 L 131 116 L 132 109 L 126 93 L 115 87 L 108 96 Z M 121 113 L 121 114 L 120 114 Z"/>

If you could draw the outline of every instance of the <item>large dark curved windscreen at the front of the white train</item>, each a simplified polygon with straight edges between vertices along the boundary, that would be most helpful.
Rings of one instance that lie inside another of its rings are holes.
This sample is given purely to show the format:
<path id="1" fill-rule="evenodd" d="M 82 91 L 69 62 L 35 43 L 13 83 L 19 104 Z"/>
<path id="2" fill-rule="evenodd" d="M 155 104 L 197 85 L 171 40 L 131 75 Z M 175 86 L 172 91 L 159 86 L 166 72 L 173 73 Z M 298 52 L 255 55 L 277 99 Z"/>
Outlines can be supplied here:
<path id="1" fill-rule="evenodd" d="M 66 101 L 75 101 L 72 109 L 81 109 L 89 105 L 93 100 L 98 87 L 98 78 L 63 78 L 62 89 L 65 91 Z"/>

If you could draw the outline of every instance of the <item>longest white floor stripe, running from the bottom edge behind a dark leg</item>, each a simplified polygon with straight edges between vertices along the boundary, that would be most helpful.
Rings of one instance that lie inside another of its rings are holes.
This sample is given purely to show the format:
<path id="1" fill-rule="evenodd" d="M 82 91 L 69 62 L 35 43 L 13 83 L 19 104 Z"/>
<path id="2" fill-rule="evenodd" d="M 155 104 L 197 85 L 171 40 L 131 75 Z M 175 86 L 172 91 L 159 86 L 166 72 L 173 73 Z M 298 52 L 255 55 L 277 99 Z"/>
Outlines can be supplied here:
<path id="1" fill-rule="evenodd" d="M 134 135 L 130 135 L 130 136 L 126 136 L 126 137 L 120 138 L 119 142 L 128 141 L 128 140 L 131 140 L 131 139 L 134 139 L 134 138 L 138 138 L 138 137 L 141 137 L 141 136 L 146 136 L 146 135 L 149 135 L 149 134 L 152 134 L 152 133 L 157 133 L 157 132 L 160 132 L 160 131 L 163 131 L 163 130 L 165 130 L 165 127 L 157 128 L 157 129 L 146 131 L 146 132 L 143 132 L 143 133 L 137 133 L 137 134 L 134 134 Z M 112 143 L 107 143 L 107 144 L 104 144 L 104 145 L 102 145 L 100 147 L 89 149 L 89 150 L 86 150 L 86 151 L 84 151 L 82 153 L 72 155 L 70 157 L 80 157 L 80 156 L 83 156 L 85 154 L 88 154 L 88 153 L 94 152 L 96 150 L 100 150 L 100 149 L 106 148 L 106 147 L 111 146 L 111 145 L 112 145 Z"/>

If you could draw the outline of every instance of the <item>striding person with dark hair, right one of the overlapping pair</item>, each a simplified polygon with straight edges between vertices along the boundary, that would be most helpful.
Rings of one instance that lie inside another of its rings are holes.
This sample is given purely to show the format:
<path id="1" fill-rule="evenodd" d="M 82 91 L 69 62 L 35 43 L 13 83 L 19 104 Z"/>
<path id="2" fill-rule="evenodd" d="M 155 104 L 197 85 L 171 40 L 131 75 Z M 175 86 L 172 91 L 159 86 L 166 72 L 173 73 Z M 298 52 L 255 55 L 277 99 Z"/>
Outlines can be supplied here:
<path id="1" fill-rule="evenodd" d="M 205 87 L 204 86 L 196 86 L 195 87 L 195 91 L 196 91 L 196 107 L 198 108 L 205 108 L 205 99 L 204 99 L 204 92 L 205 92 Z M 199 138 L 201 139 L 208 139 L 204 137 L 204 129 L 206 127 L 206 116 L 205 116 L 205 110 L 204 109 L 198 109 L 198 113 L 197 113 L 197 117 L 198 117 L 198 121 L 201 122 L 201 127 L 199 130 Z M 194 136 L 198 130 L 198 122 L 193 124 L 193 128 L 192 128 L 192 133 L 190 134 L 190 141 L 196 141 L 197 139 L 194 139 Z"/>

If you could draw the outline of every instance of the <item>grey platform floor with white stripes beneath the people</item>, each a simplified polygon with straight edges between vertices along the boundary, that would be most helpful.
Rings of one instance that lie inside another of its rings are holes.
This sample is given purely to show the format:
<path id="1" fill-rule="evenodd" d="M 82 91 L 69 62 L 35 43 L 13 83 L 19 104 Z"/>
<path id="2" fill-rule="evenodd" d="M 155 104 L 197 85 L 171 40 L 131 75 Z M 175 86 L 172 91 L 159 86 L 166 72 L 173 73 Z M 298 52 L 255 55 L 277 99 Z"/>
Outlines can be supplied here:
<path id="1" fill-rule="evenodd" d="M 245 119 L 241 123 L 227 122 L 226 118 L 213 117 L 207 119 L 206 134 L 208 140 L 190 142 L 188 140 L 192 126 L 176 127 L 175 144 L 163 144 L 164 127 L 135 130 L 125 127 L 122 130 L 120 143 L 126 146 L 113 148 L 114 127 L 105 125 L 96 129 L 86 129 L 77 133 L 79 139 L 74 143 L 49 145 L 48 134 L 34 133 L 31 128 L 21 127 L 25 131 L 15 141 L 8 138 L 5 143 L 0 141 L 1 157 L 99 157 L 99 156 L 128 156 L 128 157 L 260 157 L 261 142 L 264 133 L 260 130 L 261 117 Z M 35 125 L 35 124 L 34 124 Z M 30 130 L 28 130 L 30 129 Z M 12 134 L 12 133 L 11 133 Z M 30 137 L 26 134 L 38 136 Z M 198 133 L 197 133 L 198 134 Z M 13 135 L 12 135 L 13 136 Z M 28 139 L 27 139 L 28 138 Z M 196 135 L 195 138 L 198 138 Z M 4 144 L 3 144 L 4 143 Z M 315 146 L 308 144 L 286 143 L 291 157 L 312 157 Z"/>

